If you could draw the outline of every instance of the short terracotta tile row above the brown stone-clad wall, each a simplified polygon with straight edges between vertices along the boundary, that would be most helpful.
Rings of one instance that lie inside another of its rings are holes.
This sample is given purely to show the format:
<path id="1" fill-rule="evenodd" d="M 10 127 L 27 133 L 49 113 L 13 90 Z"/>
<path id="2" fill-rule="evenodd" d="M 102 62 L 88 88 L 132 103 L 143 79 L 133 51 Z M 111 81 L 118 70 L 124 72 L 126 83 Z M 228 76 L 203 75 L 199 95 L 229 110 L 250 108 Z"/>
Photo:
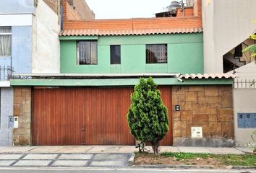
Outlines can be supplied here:
<path id="1" fill-rule="evenodd" d="M 234 74 L 184 74 L 179 76 L 180 79 L 231 79 L 235 78 Z"/>

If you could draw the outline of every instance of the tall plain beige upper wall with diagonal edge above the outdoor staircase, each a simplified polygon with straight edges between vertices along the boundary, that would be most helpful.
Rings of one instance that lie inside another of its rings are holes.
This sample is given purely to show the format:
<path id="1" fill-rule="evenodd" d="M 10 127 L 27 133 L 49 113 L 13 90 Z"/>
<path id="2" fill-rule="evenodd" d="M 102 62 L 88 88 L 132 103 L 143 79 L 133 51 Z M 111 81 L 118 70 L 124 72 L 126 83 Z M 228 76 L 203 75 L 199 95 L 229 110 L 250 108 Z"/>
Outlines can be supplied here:
<path id="1" fill-rule="evenodd" d="M 255 0 L 202 0 L 205 73 L 223 73 L 223 55 L 255 32 L 255 8 Z"/>

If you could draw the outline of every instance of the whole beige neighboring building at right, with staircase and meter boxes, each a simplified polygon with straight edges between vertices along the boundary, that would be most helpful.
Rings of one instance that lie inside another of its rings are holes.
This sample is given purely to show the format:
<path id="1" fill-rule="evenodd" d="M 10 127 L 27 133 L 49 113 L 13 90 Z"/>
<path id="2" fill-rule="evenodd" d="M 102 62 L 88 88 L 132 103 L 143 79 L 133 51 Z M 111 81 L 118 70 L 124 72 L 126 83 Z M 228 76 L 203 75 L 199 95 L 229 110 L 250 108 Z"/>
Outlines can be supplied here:
<path id="1" fill-rule="evenodd" d="M 242 53 L 255 44 L 248 37 L 256 32 L 255 0 L 202 0 L 205 73 L 234 73 L 234 132 L 237 145 L 255 143 L 255 57 Z M 256 136 L 255 136 L 256 137 Z"/>

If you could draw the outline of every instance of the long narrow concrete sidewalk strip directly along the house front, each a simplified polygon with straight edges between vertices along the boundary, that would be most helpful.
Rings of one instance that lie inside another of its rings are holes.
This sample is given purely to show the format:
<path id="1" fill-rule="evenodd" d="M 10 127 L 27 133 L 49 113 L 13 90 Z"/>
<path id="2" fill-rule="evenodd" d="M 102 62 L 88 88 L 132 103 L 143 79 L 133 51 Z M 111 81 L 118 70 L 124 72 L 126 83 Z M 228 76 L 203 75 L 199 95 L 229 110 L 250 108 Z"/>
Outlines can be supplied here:
<path id="1" fill-rule="evenodd" d="M 147 146 L 152 152 L 152 148 Z M 131 154 L 138 151 L 135 146 L 22 146 L 0 147 L 0 154 Z M 184 152 L 203 154 L 245 154 L 248 148 L 210 148 L 161 146 L 160 152 Z"/>

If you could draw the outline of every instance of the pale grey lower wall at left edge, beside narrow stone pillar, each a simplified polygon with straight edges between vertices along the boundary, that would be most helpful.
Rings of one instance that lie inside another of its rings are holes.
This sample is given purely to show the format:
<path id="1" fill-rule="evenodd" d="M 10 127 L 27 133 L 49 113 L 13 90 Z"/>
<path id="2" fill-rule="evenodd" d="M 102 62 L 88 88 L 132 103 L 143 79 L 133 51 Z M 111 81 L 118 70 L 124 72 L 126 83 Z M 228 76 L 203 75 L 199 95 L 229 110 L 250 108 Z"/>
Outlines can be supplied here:
<path id="1" fill-rule="evenodd" d="M 0 89 L 0 146 L 12 146 L 12 128 L 9 116 L 13 115 L 13 89 Z"/>

